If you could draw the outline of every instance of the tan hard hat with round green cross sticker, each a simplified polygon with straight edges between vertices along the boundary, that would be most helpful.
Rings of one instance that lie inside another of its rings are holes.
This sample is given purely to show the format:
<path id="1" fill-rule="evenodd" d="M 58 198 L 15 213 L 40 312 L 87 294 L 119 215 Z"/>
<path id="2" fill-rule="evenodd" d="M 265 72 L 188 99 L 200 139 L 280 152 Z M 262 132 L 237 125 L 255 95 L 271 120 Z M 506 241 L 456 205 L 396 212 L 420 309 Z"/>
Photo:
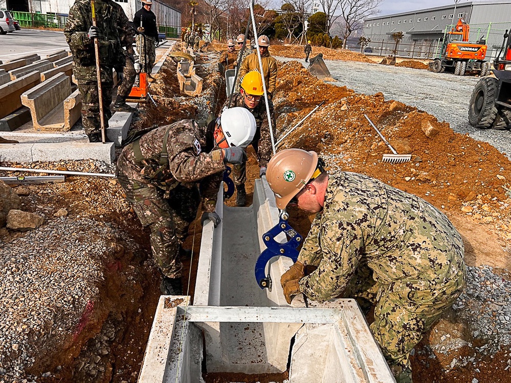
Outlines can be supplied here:
<path id="1" fill-rule="evenodd" d="M 277 207 L 285 209 L 289 201 L 313 178 L 318 154 L 302 149 L 285 149 L 275 154 L 266 170 L 266 180 L 275 193 Z"/>

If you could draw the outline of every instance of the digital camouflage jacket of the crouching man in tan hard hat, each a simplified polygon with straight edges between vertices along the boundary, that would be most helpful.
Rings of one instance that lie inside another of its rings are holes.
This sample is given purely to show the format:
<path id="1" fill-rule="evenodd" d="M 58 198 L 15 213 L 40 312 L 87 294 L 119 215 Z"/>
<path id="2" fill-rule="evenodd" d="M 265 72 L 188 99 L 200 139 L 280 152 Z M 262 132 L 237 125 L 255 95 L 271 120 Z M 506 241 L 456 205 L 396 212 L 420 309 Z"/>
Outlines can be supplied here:
<path id="1" fill-rule="evenodd" d="M 463 283 L 463 252 L 460 234 L 428 202 L 374 178 L 341 173 L 329 177 L 323 211 L 298 256 L 318 266 L 300 289 L 318 301 L 335 298 L 357 267 L 367 265 L 391 290 L 438 291 Z"/>

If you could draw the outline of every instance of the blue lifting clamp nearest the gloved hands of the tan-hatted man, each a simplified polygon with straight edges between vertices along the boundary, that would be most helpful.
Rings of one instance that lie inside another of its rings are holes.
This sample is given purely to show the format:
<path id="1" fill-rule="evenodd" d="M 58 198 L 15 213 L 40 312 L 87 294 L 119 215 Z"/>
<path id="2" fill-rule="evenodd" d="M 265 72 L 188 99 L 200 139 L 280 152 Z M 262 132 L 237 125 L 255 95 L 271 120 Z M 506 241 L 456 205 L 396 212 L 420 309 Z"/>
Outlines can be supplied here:
<path id="1" fill-rule="evenodd" d="M 285 210 L 281 210 L 279 223 L 262 235 L 262 240 L 267 249 L 259 255 L 255 265 L 255 277 L 261 290 L 266 288 L 272 291 L 272 279 L 270 278 L 270 274 L 266 276 L 266 265 L 271 258 L 277 255 L 283 255 L 290 257 L 293 262 L 296 262 L 298 259 L 298 247 L 302 243 L 303 238 L 287 223 L 288 219 L 289 216 Z M 275 237 L 280 233 L 285 233 L 290 240 L 284 243 L 275 241 Z"/>

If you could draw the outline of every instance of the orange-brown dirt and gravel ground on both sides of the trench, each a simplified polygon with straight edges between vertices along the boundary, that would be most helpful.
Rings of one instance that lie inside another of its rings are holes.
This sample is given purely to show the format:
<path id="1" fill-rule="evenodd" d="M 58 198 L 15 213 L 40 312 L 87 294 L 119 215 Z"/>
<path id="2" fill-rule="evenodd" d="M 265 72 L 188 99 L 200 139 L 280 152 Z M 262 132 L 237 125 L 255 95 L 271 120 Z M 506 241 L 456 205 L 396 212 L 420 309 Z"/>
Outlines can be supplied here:
<path id="1" fill-rule="evenodd" d="M 310 75 L 303 67 L 303 46 L 292 52 L 271 47 L 281 60 L 273 99 L 277 137 L 325 101 L 279 149 L 315 150 L 331 174 L 367 174 L 445 212 L 463 236 L 467 287 L 415 348 L 414 381 L 511 381 L 511 163 L 503 154 L 511 150 L 499 141 L 509 132 L 468 126 L 466 105 L 476 78 L 376 65 L 357 53 L 321 50 L 336 83 Z M 313 47 L 312 56 L 317 52 Z M 282 56 L 292 60 L 283 62 Z M 142 106 L 132 129 L 206 118 L 215 105 L 217 113 L 225 87 L 216 58 L 217 52 L 210 52 L 196 60 L 204 64 L 197 67 L 204 90 L 196 98 L 179 94 L 176 64 L 167 60 L 151 85 L 158 106 Z M 431 86 L 432 81 L 449 88 Z M 408 90 L 394 92 L 397 86 Z M 430 104 L 438 107 L 429 109 Z M 364 114 L 398 153 L 411 153 L 412 161 L 382 162 L 389 150 Z M 114 172 L 99 161 L 2 165 Z M 250 149 L 249 204 L 257 177 Z M 113 179 L 68 177 L 65 183 L 15 190 L 21 208 L 46 222 L 26 232 L 0 229 L 0 381 L 135 382 L 160 295 L 160 274 L 150 256 L 148 231 L 120 185 Z M 233 206 L 234 197 L 226 203 Z M 290 213 L 292 226 L 306 235 L 312 217 L 296 209 Z M 197 221 L 184 244 L 194 250 L 192 260 L 184 261 L 190 272 L 183 278 L 192 296 L 202 230 Z"/>

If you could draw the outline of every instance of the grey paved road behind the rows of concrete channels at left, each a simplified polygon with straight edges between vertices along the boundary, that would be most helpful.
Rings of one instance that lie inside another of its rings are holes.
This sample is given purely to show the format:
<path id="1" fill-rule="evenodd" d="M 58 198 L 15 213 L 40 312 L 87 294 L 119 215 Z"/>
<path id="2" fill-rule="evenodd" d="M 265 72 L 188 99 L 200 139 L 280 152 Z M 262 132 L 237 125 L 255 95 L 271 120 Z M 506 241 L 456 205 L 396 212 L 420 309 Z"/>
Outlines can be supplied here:
<path id="1" fill-rule="evenodd" d="M 41 58 L 62 49 L 69 49 L 63 32 L 21 29 L 0 35 L 0 60 L 11 61 L 18 57 L 37 53 Z"/>

